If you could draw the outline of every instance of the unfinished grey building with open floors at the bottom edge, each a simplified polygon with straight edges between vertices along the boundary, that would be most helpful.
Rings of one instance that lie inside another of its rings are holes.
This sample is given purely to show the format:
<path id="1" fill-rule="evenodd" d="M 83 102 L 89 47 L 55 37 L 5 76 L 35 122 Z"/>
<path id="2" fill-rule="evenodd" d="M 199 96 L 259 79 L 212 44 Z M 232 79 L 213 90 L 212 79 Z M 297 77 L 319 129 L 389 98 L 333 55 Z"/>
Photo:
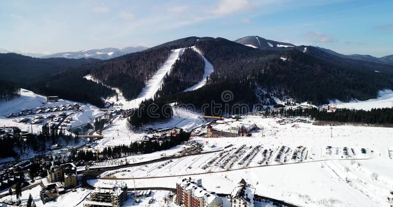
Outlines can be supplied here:
<path id="1" fill-rule="evenodd" d="M 121 207 L 127 201 L 127 184 L 116 182 L 114 184 L 101 184 L 84 202 L 85 207 Z"/>

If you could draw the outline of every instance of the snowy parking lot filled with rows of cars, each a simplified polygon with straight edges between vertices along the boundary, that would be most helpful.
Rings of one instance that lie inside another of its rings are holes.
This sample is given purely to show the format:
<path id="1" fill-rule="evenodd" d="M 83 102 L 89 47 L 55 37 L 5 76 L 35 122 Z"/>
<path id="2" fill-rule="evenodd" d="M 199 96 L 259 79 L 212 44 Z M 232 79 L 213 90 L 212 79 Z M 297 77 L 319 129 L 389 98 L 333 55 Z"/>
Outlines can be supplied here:
<path id="1" fill-rule="evenodd" d="M 221 172 L 257 166 L 307 162 L 318 160 L 315 155 L 313 158 L 309 158 L 309 155 L 312 154 L 310 151 L 314 150 L 305 146 L 290 147 L 281 145 L 279 147 L 274 147 L 271 145 L 264 146 L 262 144 L 240 144 L 215 153 L 191 155 L 143 166 L 119 169 L 113 172 L 108 172 L 104 176 L 129 178 L 170 176 L 178 174 L 188 175 L 194 173 Z M 322 150 L 324 153 L 319 160 L 368 158 L 372 156 L 369 153 L 371 150 L 366 148 L 327 146 Z"/>

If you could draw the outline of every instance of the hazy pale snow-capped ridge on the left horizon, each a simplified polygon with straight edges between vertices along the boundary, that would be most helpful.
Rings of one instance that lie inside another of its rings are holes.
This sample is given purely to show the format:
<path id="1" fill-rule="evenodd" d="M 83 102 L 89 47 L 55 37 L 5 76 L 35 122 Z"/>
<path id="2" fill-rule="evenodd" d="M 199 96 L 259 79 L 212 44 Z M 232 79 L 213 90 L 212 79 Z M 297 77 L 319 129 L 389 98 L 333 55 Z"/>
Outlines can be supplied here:
<path id="1" fill-rule="evenodd" d="M 123 54 L 128 54 L 131 52 L 140 52 L 146 50 L 148 47 L 145 46 L 137 46 L 137 47 L 127 47 L 127 48 L 104 48 L 104 49 L 88 49 L 79 52 L 59 52 L 56 54 L 46 55 L 41 58 L 50 58 L 50 57 L 65 57 L 65 58 L 96 58 L 96 59 L 110 59 L 113 57 L 117 57 Z"/>

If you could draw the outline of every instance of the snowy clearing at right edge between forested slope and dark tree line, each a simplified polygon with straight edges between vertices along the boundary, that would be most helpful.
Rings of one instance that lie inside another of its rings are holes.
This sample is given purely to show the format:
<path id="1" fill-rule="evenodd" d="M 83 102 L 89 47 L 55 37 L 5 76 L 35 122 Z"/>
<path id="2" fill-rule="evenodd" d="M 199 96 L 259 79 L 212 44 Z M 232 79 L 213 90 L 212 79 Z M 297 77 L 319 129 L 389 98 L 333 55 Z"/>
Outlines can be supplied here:
<path id="1" fill-rule="evenodd" d="M 339 101 L 333 101 L 332 105 L 336 108 L 349 108 L 349 109 L 364 109 L 370 110 L 371 108 L 391 108 L 393 107 L 393 91 L 382 90 L 379 91 L 378 98 L 369 99 L 366 101 L 354 100 L 349 103 L 341 103 Z"/>

